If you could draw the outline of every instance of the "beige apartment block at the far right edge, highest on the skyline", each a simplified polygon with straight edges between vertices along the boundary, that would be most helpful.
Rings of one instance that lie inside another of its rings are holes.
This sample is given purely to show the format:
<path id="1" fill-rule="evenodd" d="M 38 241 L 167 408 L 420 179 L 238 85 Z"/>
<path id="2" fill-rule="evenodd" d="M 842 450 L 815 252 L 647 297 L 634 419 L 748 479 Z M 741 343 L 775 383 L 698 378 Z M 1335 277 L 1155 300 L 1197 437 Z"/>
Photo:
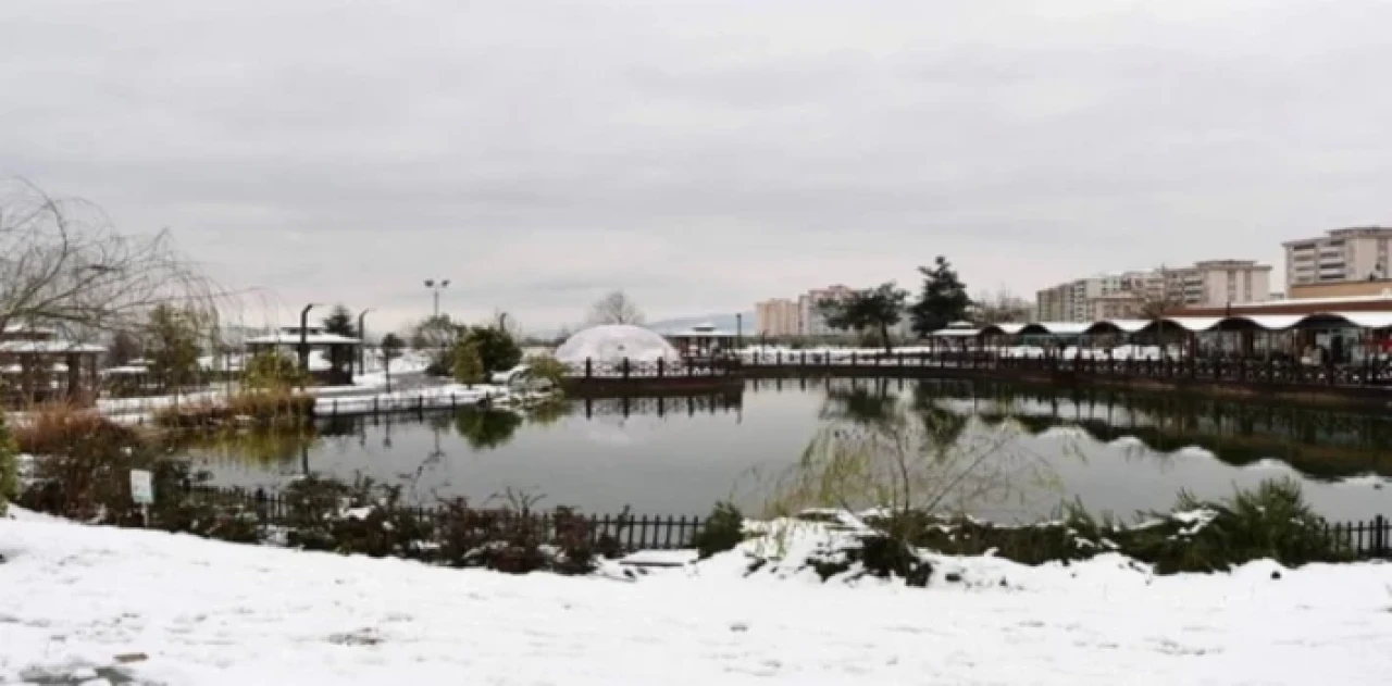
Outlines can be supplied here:
<path id="1" fill-rule="evenodd" d="M 1318 238 L 1286 241 L 1286 289 L 1307 284 L 1388 277 L 1392 228 L 1335 228 Z"/>

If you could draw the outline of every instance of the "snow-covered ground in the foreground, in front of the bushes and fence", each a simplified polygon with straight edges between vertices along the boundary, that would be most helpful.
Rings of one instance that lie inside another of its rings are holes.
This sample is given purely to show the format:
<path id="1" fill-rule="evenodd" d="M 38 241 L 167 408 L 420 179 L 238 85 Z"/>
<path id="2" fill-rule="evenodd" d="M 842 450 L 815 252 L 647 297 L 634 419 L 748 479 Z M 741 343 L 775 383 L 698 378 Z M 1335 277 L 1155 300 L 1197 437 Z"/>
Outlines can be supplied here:
<path id="1" fill-rule="evenodd" d="M 1392 565 L 1151 577 L 976 558 L 928 589 L 448 571 L 0 520 L 0 683 L 116 655 L 167 685 L 1385 683 Z M 665 555 L 670 558 L 671 555 Z M 945 565 L 944 565 L 945 566 Z M 60 683 L 49 680 L 45 683 Z M 78 683 L 77 680 L 61 683 Z"/>

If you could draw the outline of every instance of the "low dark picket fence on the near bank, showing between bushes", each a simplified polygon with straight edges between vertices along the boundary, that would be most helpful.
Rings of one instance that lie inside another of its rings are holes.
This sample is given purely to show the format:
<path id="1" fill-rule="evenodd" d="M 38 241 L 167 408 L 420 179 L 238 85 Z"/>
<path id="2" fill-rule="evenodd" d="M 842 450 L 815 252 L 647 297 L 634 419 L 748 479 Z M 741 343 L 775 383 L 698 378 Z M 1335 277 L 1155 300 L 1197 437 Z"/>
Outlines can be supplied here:
<path id="1" fill-rule="evenodd" d="M 291 522 L 294 504 L 262 488 L 193 488 L 202 500 L 223 505 L 239 505 L 256 515 L 262 526 L 284 526 Z M 401 512 L 420 522 L 438 525 L 448 509 L 443 506 L 402 506 Z M 533 511 L 525 515 L 516 511 L 491 511 L 504 520 L 522 519 L 540 534 L 554 533 L 554 515 L 547 511 Z M 597 544 L 604 536 L 611 536 L 625 552 L 642 550 L 683 550 L 692 547 L 692 540 L 706 522 L 699 516 L 654 516 L 654 515 L 583 515 L 589 523 L 590 543 Z M 1339 547 L 1360 559 L 1392 558 L 1392 520 L 1378 515 L 1370 522 L 1334 522 L 1325 526 L 1324 534 Z"/>

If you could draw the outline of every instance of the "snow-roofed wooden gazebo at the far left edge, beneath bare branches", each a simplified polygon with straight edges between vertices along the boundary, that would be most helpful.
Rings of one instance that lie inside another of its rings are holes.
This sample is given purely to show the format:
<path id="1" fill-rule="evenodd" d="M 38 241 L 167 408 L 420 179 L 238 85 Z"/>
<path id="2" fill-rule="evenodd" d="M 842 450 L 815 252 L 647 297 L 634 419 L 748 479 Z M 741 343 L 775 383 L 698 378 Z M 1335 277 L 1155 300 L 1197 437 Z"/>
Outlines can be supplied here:
<path id="1" fill-rule="evenodd" d="M 96 401 L 100 345 L 58 338 L 57 331 L 7 327 L 0 331 L 0 391 L 7 404 Z"/>

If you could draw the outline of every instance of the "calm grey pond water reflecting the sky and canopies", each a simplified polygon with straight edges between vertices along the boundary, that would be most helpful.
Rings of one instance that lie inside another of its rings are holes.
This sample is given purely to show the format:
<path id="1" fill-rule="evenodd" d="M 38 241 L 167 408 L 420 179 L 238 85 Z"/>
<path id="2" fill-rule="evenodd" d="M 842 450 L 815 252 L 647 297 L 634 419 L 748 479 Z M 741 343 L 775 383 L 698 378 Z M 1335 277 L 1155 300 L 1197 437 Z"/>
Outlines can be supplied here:
<path id="1" fill-rule="evenodd" d="M 995 441 L 1001 459 L 1030 465 L 1008 494 L 969 508 L 998 520 L 1033 520 L 1073 498 L 1118 515 L 1166 509 L 1182 488 L 1221 497 L 1274 476 L 1299 479 L 1331 519 L 1392 515 L 1388 419 L 966 381 L 749 381 L 734 395 L 574 401 L 530 417 L 340 419 L 312 437 L 258 437 L 195 458 L 227 486 L 274 488 L 310 470 L 402 484 L 422 504 L 512 490 L 596 513 L 704 515 L 722 498 L 757 512 L 818 430 L 896 404 L 955 417 L 960 441 Z"/>

